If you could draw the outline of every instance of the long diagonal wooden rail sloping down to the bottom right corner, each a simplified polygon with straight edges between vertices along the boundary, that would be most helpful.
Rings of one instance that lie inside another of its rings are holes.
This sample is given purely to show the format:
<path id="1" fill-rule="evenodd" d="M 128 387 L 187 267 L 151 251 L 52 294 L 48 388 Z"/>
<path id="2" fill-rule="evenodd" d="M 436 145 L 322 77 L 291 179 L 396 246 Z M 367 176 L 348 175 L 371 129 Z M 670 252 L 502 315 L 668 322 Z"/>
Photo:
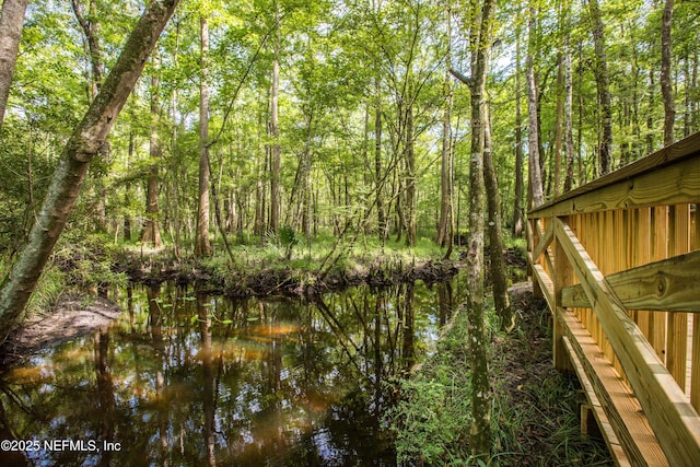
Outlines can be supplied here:
<path id="1" fill-rule="evenodd" d="M 571 229 L 555 220 L 555 236 L 579 277 L 658 442 L 674 466 L 697 467 L 700 417 L 657 358 Z M 563 258 L 559 258 L 562 260 Z M 600 396 L 600 395 L 599 395 Z M 619 433 L 618 433 L 619 435 Z"/>

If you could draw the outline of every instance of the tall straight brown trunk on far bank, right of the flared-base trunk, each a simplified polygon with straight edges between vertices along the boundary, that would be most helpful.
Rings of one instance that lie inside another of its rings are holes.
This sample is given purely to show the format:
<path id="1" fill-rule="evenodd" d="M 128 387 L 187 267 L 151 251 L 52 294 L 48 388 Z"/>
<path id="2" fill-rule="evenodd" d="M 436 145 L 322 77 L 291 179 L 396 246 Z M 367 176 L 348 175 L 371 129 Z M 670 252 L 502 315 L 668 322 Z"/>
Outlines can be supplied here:
<path id="1" fill-rule="evenodd" d="M 209 22 L 200 21 L 201 77 L 199 82 L 199 203 L 197 205 L 197 231 L 195 256 L 211 255 L 209 243 Z"/>

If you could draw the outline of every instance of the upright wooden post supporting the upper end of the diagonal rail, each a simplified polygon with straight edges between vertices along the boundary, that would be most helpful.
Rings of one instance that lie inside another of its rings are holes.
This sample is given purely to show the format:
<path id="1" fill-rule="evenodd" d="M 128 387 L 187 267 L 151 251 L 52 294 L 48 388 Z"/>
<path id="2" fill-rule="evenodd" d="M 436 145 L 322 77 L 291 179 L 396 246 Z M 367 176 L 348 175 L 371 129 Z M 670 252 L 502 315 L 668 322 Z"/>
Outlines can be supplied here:
<path id="1" fill-rule="evenodd" d="M 553 223 L 556 218 L 552 218 Z M 562 218 L 562 222 L 567 223 L 568 218 Z M 561 291 L 573 284 L 573 269 L 567 259 L 567 255 L 561 247 L 561 242 L 555 234 L 555 310 L 552 310 L 552 354 L 555 367 L 564 373 L 572 373 L 573 367 L 567 355 L 567 349 L 562 337 L 564 336 L 564 329 L 561 322 L 558 318 L 559 313 L 565 313 L 565 310 L 561 306 Z"/>

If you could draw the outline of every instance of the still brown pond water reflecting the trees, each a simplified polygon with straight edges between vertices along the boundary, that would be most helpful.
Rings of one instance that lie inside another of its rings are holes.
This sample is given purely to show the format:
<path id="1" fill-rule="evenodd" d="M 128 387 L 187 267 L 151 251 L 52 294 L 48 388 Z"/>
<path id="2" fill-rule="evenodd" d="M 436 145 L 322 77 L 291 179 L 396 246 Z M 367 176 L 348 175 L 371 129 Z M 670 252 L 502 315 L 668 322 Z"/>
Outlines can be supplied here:
<path id="1" fill-rule="evenodd" d="M 121 291 L 108 330 L 0 375 L 1 437 L 23 451 L 0 464 L 393 466 L 390 380 L 431 351 L 453 295 L 420 282 L 315 300 Z"/>

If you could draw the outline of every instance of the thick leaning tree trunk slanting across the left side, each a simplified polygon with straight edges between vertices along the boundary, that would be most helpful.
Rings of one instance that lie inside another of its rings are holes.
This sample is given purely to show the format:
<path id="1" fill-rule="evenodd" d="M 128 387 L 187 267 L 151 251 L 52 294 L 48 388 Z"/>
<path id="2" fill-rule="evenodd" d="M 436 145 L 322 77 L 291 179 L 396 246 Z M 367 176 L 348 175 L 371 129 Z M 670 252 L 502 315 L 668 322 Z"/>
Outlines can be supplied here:
<path id="1" fill-rule="evenodd" d="M 178 0 L 151 1 L 121 55 L 68 140 L 25 246 L 0 289 L 0 338 L 12 330 L 70 215 L 88 167 L 105 143 Z"/>

